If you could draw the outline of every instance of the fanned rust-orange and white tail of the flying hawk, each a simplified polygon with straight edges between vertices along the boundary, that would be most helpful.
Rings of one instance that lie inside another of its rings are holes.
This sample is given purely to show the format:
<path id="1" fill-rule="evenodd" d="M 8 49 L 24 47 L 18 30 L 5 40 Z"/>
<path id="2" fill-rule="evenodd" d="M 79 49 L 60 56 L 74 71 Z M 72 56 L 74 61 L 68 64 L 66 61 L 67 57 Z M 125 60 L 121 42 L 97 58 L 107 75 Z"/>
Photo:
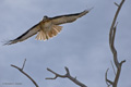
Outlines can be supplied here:
<path id="1" fill-rule="evenodd" d="M 37 40 L 47 40 L 49 38 L 52 38 L 53 36 L 58 35 L 60 30 L 62 29 L 62 26 L 52 25 L 51 29 L 48 32 L 44 32 L 43 29 L 38 32 L 38 35 L 36 36 Z"/>

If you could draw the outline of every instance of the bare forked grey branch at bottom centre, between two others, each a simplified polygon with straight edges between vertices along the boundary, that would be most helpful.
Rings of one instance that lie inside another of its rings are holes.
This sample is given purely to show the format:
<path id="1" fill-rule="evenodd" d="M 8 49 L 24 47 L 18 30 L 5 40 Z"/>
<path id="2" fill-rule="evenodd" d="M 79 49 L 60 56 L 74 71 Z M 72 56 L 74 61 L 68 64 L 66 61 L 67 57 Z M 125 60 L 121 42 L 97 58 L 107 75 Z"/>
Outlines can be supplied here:
<path id="1" fill-rule="evenodd" d="M 69 78 L 70 80 L 72 80 L 73 83 L 75 83 L 76 85 L 81 86 L 81 87 L 87 87 L 86 85 L 84 85 L 83 83 L 81 83 L 80 80 L 76 79 L 76 77 L 72 77 L 70 75 L 70 72 L 69 72 L 69 69 L 68 67 L 64 67 L 66 69 L 66 72 L 67 74 L 66 75 L 60 75 L 56 72 L 53 72 L 52 70 L 50 69 L 47 69 L 47 71 L 51 72 L 52 74 L 55 74 L 55 77 L 47 77 L 46 79 L 56 79 L 57 77 L 61 77 L 61 78 Z"/>

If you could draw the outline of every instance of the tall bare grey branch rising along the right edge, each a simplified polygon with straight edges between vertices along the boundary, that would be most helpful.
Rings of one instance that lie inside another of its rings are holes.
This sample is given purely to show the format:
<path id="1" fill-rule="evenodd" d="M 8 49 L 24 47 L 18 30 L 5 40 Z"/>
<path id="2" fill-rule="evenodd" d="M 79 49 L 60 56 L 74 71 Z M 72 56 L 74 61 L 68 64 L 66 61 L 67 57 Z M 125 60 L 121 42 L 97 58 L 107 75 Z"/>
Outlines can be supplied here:
<path id="1" fill-rule="evenodd" d="M 106 79 L 106 83 L 107 83 L 108 87 L 110 85 L 112 85 L 112 87 L 117 87 L 117 84 L 118 84 L 118 80 L 119 80 L 119 76 L 120 76 L 120 72 L 121 72 L 122 63 L 126 62 L 126 60 L 123 60 L 123 61 L 121 61 L 119 63 L 118 58 L 117 58 L 117 50 L 115 48 L 115 35 L 116 35 L 116 29 L 117 29 L 117 24 L 118 24 L 118 23 L 116 23 L 116 21 L 117 21 L 118 14 L 119 14 L 119 12 L 121 10 L 121 7 L 122 7 L 123 2 L 124 2 L 124 0 L 122 0 L 120 2 L 120 4 L 118 4 L 118 3 L 115 2 L 115 4 L 118 7 L 118 9 L 117 9 L 117 12 L 115 14 L 115 17 L 114 17 L 114 21 L 112 21 L 112 24 L 111 24 L 111 27 L 110 27 L 109 46 L 110 46 L 110 50 L 111 50 L 112 55 L 114 55 L 115 65 L 117 67 L 117 74 L 116 74 L 116 77 L 115 77 L 114 82 L 111 82 L 111 80 L 109 80 L 107 78 L 107 72 L 108 72 L 108 70 L 107 70 L 107 72 L 105 74 L 105 79 Z"/>

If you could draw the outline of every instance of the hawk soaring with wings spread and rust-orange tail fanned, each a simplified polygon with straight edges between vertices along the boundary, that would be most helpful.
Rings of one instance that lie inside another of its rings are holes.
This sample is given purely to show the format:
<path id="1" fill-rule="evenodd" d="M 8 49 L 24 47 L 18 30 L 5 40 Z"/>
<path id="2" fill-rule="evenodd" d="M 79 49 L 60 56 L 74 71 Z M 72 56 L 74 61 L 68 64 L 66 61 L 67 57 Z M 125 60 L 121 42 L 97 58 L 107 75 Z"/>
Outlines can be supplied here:
<path id="1" fill-rule="evenodd" d="M 24 41 L 36 34 L 37 40 L 47 40 L 60 33 L 60 30 L 62 29 L 62 26 L 59 26 L 60 24 L 72 23 L 76 21 L 79 17 L 82 17 L 83 15 L 88 13 L 90 11 L 91 9 L 84 10 L 83 12 L 80 13 L 59 15 L 55 17 L 48 17 L 47 15 L 45 15 L 43 21 L 40 21 L 38 24 L 34 25 L 32 28 L 29 28 L 27 32 L 25 32 L 17 38 L 9 40 L 4 45 L 12 45 Z"/>

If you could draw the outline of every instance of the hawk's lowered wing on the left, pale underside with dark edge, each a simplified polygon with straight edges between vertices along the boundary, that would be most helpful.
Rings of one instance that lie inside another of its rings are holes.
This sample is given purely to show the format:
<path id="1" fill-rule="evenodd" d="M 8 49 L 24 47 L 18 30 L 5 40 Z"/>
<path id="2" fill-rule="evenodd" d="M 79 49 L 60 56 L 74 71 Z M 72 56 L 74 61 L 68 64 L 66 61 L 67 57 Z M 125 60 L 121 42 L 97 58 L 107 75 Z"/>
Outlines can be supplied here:
<path id="1" fill-rule="evenodd" d="M 37 32 L 39 30 L 39 24 L 36 24 L 35 26 L 33 26 L 31 29 L 28 29 L 27 32 L 25 32 L 24 34 L 22 34 L 20 37 L 17 37 L 16 39 L 13 40 L 9 40 L 8 42 L 5 42 L 4 45 L 12 45 L 12 44 L 16 44 L 20 41 L 23 41 L 29 37 L 32 37 L 33 35 L 37 34 Z"/>

